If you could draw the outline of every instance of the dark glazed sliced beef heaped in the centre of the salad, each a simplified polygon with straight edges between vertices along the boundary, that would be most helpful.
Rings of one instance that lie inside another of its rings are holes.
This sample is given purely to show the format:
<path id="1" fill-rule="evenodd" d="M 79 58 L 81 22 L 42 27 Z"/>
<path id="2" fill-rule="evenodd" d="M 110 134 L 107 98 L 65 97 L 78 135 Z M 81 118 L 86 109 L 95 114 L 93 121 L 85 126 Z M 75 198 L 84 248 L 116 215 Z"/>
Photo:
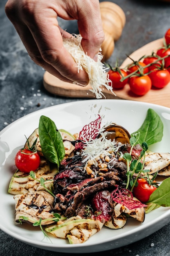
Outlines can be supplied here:
<path id="1" fill-rule="evenodd" d="M 93 175 L 87 174 L 86 162 L 83 161 L 81 153 L 63 162 L 64 170 L 57 173 L 54 177 L 55 210 L 71 217 L 77 209 L 88 198 L 98 191 L 114 188 L 115 184 L 122 184 L 121 167 L 126 172 L 127 167 L 124 163 L 110 156 L 106 172 L 99 175 L 102 170 L 99 165 L 92 165 Z M 121 171 L 120 171 L 121 170 Z M 94 176 L 94 173 L 96 175 Z"/>

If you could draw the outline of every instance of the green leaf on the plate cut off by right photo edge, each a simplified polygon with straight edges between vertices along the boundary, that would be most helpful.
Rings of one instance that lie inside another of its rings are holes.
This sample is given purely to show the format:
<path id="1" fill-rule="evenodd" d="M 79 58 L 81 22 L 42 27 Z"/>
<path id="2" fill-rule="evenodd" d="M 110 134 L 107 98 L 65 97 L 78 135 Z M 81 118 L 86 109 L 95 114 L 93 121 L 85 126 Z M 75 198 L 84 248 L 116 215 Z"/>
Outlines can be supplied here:
<path id="1" fill-rule="evenodd" d="M 154 203 L 160 206 L 170 206 L 170 177 L 163 180 L 161 185 L 150 195 L 147 204 Z"/>

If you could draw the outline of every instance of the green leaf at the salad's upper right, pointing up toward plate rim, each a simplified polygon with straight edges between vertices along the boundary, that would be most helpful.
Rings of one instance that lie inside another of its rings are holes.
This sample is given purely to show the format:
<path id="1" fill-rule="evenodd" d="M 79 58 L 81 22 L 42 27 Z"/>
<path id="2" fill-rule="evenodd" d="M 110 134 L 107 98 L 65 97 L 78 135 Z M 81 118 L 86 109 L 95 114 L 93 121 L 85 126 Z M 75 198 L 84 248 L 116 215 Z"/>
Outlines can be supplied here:
<path id="1" fill-rule="evenodd" d="M 155 110 L 151 108 L 148 109 L 144 123 L 136 132 L 133 132 L 131 136 L 135 136 L 136 133 L 139 133 L 139 144 L 145 141 L 149 146 L 161 141 L 163 137 L 163 123 Z"/>

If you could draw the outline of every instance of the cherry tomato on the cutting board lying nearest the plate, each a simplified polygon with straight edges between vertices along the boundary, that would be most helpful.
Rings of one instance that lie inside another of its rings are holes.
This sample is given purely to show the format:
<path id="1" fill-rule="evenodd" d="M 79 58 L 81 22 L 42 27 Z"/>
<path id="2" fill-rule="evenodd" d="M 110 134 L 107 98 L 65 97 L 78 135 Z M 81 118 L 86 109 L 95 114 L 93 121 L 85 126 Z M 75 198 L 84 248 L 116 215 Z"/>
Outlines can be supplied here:
<path id="1" fill-rule="evenodd" d="M 132 76 L 129 81 L 130 90 L 138 96 L 146 94 L 152 86 L 149 76 Z"/>

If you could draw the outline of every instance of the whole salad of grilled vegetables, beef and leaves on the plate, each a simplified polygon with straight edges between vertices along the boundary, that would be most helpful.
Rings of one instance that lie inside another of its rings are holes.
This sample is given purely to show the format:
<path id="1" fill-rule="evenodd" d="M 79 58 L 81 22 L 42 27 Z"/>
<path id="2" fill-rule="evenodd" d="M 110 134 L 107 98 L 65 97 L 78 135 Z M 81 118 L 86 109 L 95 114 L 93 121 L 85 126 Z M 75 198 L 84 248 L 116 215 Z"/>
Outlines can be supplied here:
<path id="1" fill-rule="evenodd" d="M 40 117 L 15 157 L 17 170 L 9 183 L 16 222 L 75 244 L 103 226 L 120 229 L 128 218 L 144 222 L 146 213 L 170 206 L 170 153 L 149 150 L 163 136 L 157 113 L 148 109 L 131 135 L 120 125 L 101 123 L 98 115 L 72 135 Z M 157 175 L 165 177 L 161 184 Z"/>

